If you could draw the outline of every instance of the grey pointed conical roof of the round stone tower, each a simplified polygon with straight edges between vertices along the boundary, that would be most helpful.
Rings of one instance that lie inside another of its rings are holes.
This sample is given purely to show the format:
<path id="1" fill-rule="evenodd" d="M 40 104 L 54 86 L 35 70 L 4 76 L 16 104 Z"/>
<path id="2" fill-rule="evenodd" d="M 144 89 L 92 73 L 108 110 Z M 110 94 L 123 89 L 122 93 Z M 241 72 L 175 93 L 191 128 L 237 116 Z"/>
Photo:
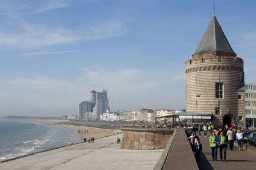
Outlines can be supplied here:
<path id="1" fill-rule="evenodd" d="M 207 30 L 193 55 L 205 52 L 233 52 L 215 15 L 213 15 Z"/>

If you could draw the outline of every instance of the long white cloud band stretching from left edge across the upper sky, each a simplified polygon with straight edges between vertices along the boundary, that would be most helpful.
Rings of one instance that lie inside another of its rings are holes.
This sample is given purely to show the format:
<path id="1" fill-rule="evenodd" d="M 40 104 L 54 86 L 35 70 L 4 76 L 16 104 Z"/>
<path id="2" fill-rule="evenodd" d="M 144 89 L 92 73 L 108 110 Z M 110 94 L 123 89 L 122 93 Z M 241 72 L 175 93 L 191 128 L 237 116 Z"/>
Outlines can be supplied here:
<path id="1" fill-rule="evenodd" d="M 70 30 L 63 27 L 33 25 L 27 22 L 16 23 L 18 29 L 0 30 L 1 49 L 40 49 L 58 44 L 112 38 L 124 35 L 129 21 L 105 21 L 90 24 L 85 29 Z"/>

